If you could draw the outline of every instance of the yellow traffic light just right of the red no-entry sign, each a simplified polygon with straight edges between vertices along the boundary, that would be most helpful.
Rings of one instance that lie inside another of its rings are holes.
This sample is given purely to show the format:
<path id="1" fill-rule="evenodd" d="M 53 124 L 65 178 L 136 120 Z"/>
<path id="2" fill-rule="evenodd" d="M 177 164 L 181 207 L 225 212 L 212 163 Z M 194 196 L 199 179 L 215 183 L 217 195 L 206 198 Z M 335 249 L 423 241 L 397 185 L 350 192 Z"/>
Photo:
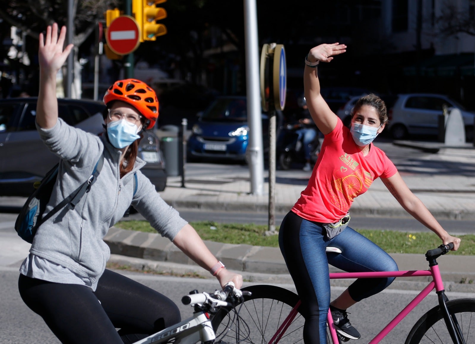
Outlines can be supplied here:
<path id="1" fill-rule="evenodd" d="M 167 11 L 164 8 L 156 7 L 166 0 L 132 0 L 132 13 L 142 30 L 140 41 L 155 40 L 158 36 L 167 33 L 167 28 L 163 24 L 157 24 L 156 20 L 167 18 Z"/>

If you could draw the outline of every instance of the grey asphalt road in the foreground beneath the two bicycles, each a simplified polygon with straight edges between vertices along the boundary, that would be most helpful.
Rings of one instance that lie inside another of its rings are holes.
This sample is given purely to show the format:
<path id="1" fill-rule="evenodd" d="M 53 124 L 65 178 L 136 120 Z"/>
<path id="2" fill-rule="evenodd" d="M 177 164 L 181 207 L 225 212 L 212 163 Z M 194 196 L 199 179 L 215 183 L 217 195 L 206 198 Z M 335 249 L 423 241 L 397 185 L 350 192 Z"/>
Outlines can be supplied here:
<path id="1" fill-rule="evenodd" d="M 124 273 L 124 275 L 170 297 L 179 306 L 183 319 L 189 317 L 192 313 L 190 306 L 181 304 L 180 300 L 183 295 L 188 295 L 189 291 L 193 289 L 198 289 L 200 292 L 212 292 L 218 288 L 218 283 L 214 279 L 203 280 L 141 273 Z M 0 276 L 0 344 L 59 343 L 42 319 L 30 311 L 19 297 L 17 289 L 18 270 L 0 267 Z M 246 285 L 249 285 L 249 283 Z M 295 292 L 293 285 L 279 286 Z M 342 290 L 342 287 L 335 287 L 332 298 L 336 297 Z M 350 320 L 362 334 L 360 342 L 369 342 L 415 295 L 416 292 L 413 291 L 388 290 L 354 305 L 350 309 Z M 474 297 L 472 294 L 460 293 L 447 293 L 447 295 L 450 299 Z M 381 343 L 404 343 L 416 320 L 436 304 L 437 296 L 431 293 Z"/>

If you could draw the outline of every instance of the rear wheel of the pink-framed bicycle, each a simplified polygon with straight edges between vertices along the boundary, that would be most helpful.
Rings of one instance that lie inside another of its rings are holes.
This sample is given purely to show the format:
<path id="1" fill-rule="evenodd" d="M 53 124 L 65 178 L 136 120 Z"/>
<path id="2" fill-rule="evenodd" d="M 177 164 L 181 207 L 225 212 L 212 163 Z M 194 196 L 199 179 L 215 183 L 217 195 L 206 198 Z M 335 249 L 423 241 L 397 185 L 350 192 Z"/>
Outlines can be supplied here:
<path id="1" fill-rule="evenodd" d="M 251 285 L 242 290 L 252 293 L 233 309 L 220 309 L 211 319 L 216 333 L 216 343 L 265 343 L 270 342 L 299 297 L 275 285 Z M 303 343 L 304 317 L 298 312 L 282 334 L 279 343 Z"/>

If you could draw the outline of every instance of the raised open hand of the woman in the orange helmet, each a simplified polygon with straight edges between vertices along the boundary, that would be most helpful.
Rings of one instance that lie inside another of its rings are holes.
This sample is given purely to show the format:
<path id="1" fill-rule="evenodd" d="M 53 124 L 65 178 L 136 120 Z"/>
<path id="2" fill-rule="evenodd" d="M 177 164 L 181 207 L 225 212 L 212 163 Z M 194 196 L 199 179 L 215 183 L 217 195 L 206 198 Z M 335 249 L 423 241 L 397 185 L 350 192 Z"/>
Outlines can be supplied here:
<path id="1" fill-rule="evenodd" d="M 58 38 L 58 25 L 48 26 L 46 38 L 43 33 L 39 34 L 38 61 L 40 69 L 44 72 L 51 72 L 56 75 L 57 71 L 65 63 L 67 56 L 73 49 L 73 44 L 69 44 L 64 50 L 63 45 L 66 37 L 66 27 L 61 28 Z"/>

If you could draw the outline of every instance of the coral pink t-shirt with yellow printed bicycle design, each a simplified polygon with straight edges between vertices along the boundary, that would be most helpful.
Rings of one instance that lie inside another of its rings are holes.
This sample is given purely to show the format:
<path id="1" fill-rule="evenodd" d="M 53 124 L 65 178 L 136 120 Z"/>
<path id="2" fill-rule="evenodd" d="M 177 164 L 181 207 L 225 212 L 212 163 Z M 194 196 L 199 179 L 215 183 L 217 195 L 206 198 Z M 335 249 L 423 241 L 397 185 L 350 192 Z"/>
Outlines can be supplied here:
<path id="1" fill-rule="evenodd" d="M 366 192 L 377 177 L 394 176 L 397 168 L 378 147 L 366 157 L 350 129 L 338 123 L 323 139 L 322 149 L 307 187 L 292 211 L 304 219 L 331 223 L 344 217 L 353 199 Z"/>

